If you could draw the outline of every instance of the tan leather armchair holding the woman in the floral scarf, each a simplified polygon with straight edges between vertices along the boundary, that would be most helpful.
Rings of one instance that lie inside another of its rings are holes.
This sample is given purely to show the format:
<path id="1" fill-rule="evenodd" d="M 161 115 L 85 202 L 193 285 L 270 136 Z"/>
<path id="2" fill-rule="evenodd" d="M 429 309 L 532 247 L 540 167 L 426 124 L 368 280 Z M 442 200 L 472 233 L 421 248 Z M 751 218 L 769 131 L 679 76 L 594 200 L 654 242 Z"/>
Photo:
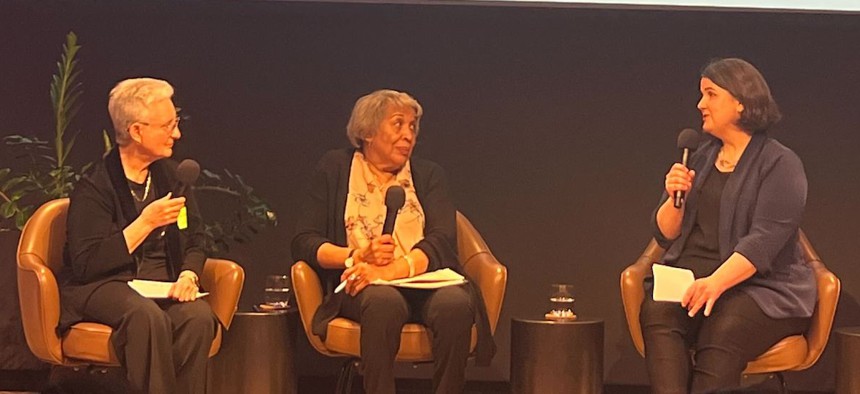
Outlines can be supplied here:
<path id="1" fill-rule="evenodd" d="M 502 300 L 505 297 L 508 271 L 496 260 L 484 239 L 481 238 L 469 220 L 459 212 L 457 213 L 457 239 L 460 264 L 481 289 L 490 321 L 490 330 L 495 333 L 499 314 L 502 310 Z M 349 358 L 341 371 L 337 389 L 338 392 L 348 392 L 354 373 L 354 360 L 361 356 L 359 346 L 361 325 L 349 319 L 336 318 L 329 323 L 328 334 L 326 340 L 323 341 L 311 332 L 311 321 L 323 301 L 323 290 L 319 276 L 310 265 L 299 261 L 292 267 L 292 279 L 302 326 L 308 341 L 314 349 L 322 354 Z M 472 351 L 475 350 L 476 343 L 477 332 L 473 326 Z M 431 349 L 427 328 L 421 324 L 406 324 L 401 331 L 400 351 L 397 353 L 396 360 L 406 362 L 432 361 L 433 352 Z"/>

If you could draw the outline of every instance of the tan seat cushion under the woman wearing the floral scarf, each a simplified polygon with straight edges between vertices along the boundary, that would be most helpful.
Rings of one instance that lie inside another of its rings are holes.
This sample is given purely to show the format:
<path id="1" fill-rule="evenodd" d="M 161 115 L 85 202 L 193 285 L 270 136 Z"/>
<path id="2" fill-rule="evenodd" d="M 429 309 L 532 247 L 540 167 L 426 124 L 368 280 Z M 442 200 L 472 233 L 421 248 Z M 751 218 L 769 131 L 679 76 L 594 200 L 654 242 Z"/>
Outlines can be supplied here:
<path id="1" fill-rule="evenodd" d="M 346 354 L 353 357 L 361 356 L 361 325 L 342 317 L 338 317 L 328 324 L 325 346 L 328 350 Z M 475 326 L 472 326 L 472 340 L 469 345 L 471 351 L 475 350 L 478 335 Z M 397 352 L 397 361 L 424 362 L 433 360 L 433 340 L 427 327 L 421 324 L 409 323 L 403 326 L 400 333 L 400 351 Z"/>

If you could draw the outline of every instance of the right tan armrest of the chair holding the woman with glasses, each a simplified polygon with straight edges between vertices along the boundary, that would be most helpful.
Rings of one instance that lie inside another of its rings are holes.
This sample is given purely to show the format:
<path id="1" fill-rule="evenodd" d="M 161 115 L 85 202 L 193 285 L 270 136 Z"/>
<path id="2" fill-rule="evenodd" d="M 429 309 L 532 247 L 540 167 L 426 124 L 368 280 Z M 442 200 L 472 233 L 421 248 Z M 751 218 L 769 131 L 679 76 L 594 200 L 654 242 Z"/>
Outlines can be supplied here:
<path id="1" fill-rule="evenodd" d="M 245 270 L 229 260 L 207 259 L 200 284 L 209 295 L 203 297 L 225 329 L 230 328 L 245 284 Z"/>

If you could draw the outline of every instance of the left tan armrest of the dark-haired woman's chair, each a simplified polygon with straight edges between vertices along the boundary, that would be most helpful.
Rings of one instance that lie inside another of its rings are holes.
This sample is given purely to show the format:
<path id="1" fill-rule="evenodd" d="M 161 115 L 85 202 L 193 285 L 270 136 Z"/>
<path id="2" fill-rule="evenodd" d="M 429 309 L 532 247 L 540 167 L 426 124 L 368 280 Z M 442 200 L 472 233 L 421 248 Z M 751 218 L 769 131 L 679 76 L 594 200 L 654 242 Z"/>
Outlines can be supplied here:
<path id="1" fill-rule="evenodd" d="M 651 240 L 642 255 L 621 273 L 621 301 L 624 304 L 624 316 L 627 318 L 627 328 L 633 345 L 643 357 L 645 356 L 645 340 L 642 338 L 642 326 L 639 323 L 639 312 L 645 299 L 643 281 L 651 272 L 651 265 L 663 255 L 663 249 L 657 241 Z"/>

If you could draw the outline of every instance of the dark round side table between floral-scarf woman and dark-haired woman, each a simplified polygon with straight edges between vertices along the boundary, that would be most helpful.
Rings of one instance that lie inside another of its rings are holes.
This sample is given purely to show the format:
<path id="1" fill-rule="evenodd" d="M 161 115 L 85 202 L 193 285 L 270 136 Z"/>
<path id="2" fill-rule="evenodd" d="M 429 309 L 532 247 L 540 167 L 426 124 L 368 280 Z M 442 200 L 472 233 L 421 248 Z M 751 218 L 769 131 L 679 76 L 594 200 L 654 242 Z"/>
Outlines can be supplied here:
<path id="1" fill-rule="evenodd" d="M 603 391 L 603 320 L 511 320 L 511 393 Z"/>

